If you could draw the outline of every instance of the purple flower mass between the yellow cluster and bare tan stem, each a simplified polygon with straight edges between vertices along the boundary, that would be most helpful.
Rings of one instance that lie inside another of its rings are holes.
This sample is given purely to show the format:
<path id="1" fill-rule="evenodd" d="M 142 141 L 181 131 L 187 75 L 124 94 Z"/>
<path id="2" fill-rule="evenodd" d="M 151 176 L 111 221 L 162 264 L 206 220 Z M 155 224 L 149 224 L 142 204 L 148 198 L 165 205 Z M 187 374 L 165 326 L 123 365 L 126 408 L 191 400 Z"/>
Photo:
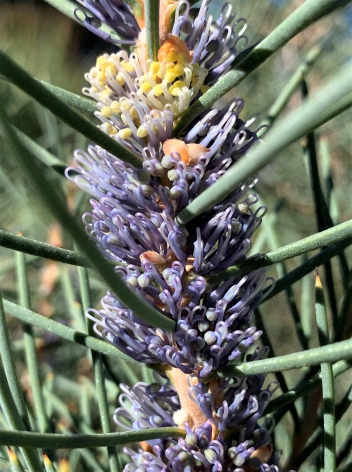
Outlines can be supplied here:
<path id="1" fill-rule="evenodd" d="M 171 148 L 181 146 L 179 151 L 164 154 L 165 145 L 158 152 L 144 148 L 144 170 L 97 147 L 90 147 L 89 154 L 75 153 L 73 180 L 94 197 L 92 213 L 83 217 L 89 235 L 109 259 L 127 263 L 116 269 L 127 284 L 177 321 L 174 333 L 151 328 L 107 294 L 103 309 L 90 310 L 89 318 L 97 333 L 134 359 L 185 373 L 199 368 L 205 377 L 241 356 L 260 335 L 251 319 L 263 297 L 265 273 L 231 278 L 218 287 L 206 281 L 249 251 L 249 238 L 265 213 L 263 207 L 251 210 L 255 194 L 246 197 L 255 180 L 204 213 L 196 225 L 175 223 L 178 211 L 257 142 L 256 132 L 239 119 L 240 108 L 237 100 L 227 112 L 210 111 L 184 142 L 167 141 Z M 187 165 L 180 153 L 191 144 L 204 151 Z"/>

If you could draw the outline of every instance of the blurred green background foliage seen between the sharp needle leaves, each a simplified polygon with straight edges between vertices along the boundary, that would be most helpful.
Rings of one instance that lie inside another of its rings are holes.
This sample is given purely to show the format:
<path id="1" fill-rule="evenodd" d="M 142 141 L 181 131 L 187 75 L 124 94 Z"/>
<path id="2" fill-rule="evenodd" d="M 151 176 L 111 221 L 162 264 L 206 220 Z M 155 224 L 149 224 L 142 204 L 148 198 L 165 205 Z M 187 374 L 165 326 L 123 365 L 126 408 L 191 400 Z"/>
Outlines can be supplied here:
<path id="1" fill-rule="evenodd" d="M 294 11 L 302 0 L 235 0 L 232 3 L 237 18 L 247 19 L 249 26 L 246 34 L 249 37 L 249 44 L 255 44 Z M 213 2 L 214 15 L 217 15 L 221 4 L 220 1 Z M 224 97 L 220 101 L 220 106 L 226 106 L 233 96 L 242 97 L 246 102 L 245 117 L 251 118 L 259 113 L 256 123 L 261 123 L 279 92 L 303 63 L 308 51 L 313 46 L 318 46 L 320 53 L 306 75 L 309 94 L 314 94 L 346 61 L 351 61 L 351 18 L 350 4 L 344 10 L 337 11 L 308 27 L 241 82 L 237 89 Z M 84 72 L 93 66 L 96 56 L 115 49 L 115 46 L 94 37 L 43 0 L 0 0 L 0 44 L 11 58 L 34 77 L 75 93 L 80 93 L 80 89 L 85 85 Z M 0 80 L 0 101 L 15 126 L 63 161 L 69 163 L 73 150 L 85 147 L 84 137 L 4 80 Z M 298 87 L 282 115 L 296 108 L 301 101 L 302 92 Z M 315 133 L 320 178 L 335 224 L 346 221 L 352 216 L 351 114 L 351 109 L 345 111 Z M 89 118 L 97 123 L 93 116 Z M 260 172 L 256 191 L 260 194 L 260 203 L 268 206 L 268 215 L 264 218 L 260 230 L 254 235 L 255 252 L 274 249 L 318 230 L 304 144 L 304 142 L 292 144 L 279 159 Z M 44 220 L 41 218 L 44 209 L 38 206 L 31 189 L 18 173 L 16 163 L 7 151 L 6 142 L 1 136 L 0 159 L 0 228 L 11 232 L 22 232 L 26 237 L 73 249 L 72 243 L 68 237 L 61 234 L 60 228 L 52 221 L 51 216 L 45 213 Z M 51 179 L 52 185 L 65 195 L 68 206 L 77 216 L 83 213 L 84 208 L 88 208 L 88 198 L 82 196 L 80 190 L 71 187 L 61 175 L 51 171 L 48 173 L 44 167 L 43 171 Z M 80 306 L 77 269 L 34 256 L 27 256 L 26 259 L 32 309 L 82 330 L 84 318 Z M 299 259 L 288 261 L 284 267 L 270 268 L 270 275 L 275 278 L 282 276 L 282 271 L 289 271 L 303 261 L 303 258 Z M 337 294 L 337 306 L 340 306 L 344 280 L 341 280 L 341 272 L 335 259 L 332 262 L 332 278 Z M 325 280 L 323 272 L 322 275 Z M 99 300 L 105 289 L 94 273 L 90 273 L 90 281 L 94 304 L 99 306 Z M 2 247 L 0 247 L 0 284 L 4 297 L 18 302 L 15 255 L 13 251 Z M 294 302 L 298 312 L 301 313 L 309 347 L 318 345 L 314 324 L 313 284 L 314 277 L 311 274 L 294 285 Z M 301 349 L 284 292 L 265 303 L 261 311 L 276 355 Z M 329 313 L 331 311 L 330 306 Z M 31 392 L 23 357 L 22 327 L 14 319 L 9 318 L 8 323 L 18 361 L 18 373 L 27 393 L 27 402 L 30 403 Z M 63 342 L 49 333 L 38 331 L 37 334 L 37 349 L 46 401 L 55 418 L 51 424 L 52 430 L 73 433 L 99 430 L 92 383 L 92 361 L 89 354 L 84 348 L 74 343 Z M 134 374 L 139 379 L 148 380 L 150 373 L 135 366 L 126 367 L 122 363 L 116 365 L 115 361 L 106 363 L 108 395 L 113 411 L 118 395 L 116 384 L 119 381 L 129 383 L 135 380 Z M 289 387 L 294 385 L 301 375 L 301 371 L 285 373 Z M 351 375 L 349 378 L 345 375 L 337 381 L 338 402 L 350 383 Z M 304 406 L 301 402 L 301 414 Z M 348 412 L 351 414 L 351 408 Z M 345 447 L 348 428 L 351 433 L 348 412 L 339 423 L 338 450 Z M 284 450 L 284 457 L 289 456 L 292 435 L 291 419 L 286 415 L 276 429 L 277 447 Z M 67 454 L 68 452 L 58 452 L 58 457 L 64 460 Z M 80 449 L 70 452 L 71 468 L 75 464 L 72 470 L 99 470 L 94 461 L 101 461 L 103 457 L 101 454 L 103 452 L 87 453 Z M 315 456 L 313 454 L 300 470 L 315 471 L 314 466 L 308 464 L 313 464 L 317 454 L 315 452 Z"/>

